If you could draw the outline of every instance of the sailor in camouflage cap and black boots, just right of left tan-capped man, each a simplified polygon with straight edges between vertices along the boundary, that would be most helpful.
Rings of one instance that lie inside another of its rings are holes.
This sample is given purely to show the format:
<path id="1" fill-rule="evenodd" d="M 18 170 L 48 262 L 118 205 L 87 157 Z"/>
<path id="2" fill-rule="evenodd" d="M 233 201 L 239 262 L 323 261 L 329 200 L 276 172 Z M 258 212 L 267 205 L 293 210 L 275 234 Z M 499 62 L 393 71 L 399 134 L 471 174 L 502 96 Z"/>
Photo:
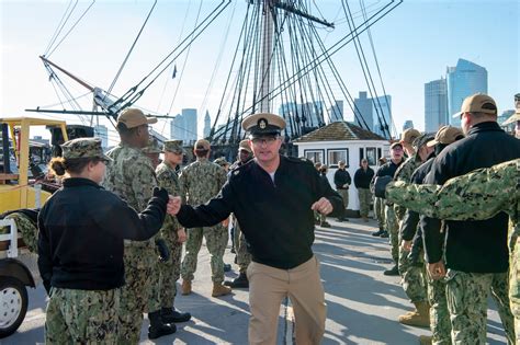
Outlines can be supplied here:
<path id="1" fill-rule="evenodd" d="M 182 140 L 167 140 L 162 148 L 165 161 L 156 169 L 159 186 L 168 191 L 170 195 L 180 196 L 181 188 L 176 166 L 182 163 L 184 150 Z M 161 237 L 165 239 L 170 257 L 159 263 L 160 272 L 160 303 L 162 321 L 186 322 L 191 319 L 188 312 L 176 310 L 174 298 L 177 295 L 177 280 L 181 275 L 182 243 L 186 240 L 184 228 L 176 217 L 168 215 L 161 229 Z"/>

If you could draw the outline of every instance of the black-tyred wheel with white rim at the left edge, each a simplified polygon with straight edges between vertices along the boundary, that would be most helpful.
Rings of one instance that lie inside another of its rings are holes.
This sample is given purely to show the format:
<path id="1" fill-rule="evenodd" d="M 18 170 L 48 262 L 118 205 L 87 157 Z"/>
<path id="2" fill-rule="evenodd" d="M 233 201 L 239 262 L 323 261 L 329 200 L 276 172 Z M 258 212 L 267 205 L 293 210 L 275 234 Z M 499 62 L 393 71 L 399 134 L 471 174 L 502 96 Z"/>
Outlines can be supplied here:
<path id="1" fill-rule="evenodd" d="M 27 312 L 27 289 L 16 278 L 0 278 L 0 338 L 16 332 Z"/>

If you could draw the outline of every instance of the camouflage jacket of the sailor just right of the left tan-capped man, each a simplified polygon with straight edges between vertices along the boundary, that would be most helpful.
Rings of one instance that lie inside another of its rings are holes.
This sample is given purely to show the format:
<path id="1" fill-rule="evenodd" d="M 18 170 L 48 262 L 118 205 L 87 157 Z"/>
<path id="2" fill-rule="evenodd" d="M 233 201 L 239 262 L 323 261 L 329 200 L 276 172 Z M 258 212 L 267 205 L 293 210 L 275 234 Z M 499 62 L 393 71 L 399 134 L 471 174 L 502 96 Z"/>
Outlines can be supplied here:
<path id="1" fill-rule="evenodd" d="M 179 183 L 179 177 L 177 176 L 176 170 L 170 166 L 168 163 L 162 162 L 156 169 L 157 181 L 159 186 L 168 191 L 168 194 L 172 196 L 181 195 L 181 185 Z M 177 217 L 166 215 L 165 223 L 161 228 L 161 237 L 169 239 L 170 241 L 177 242 L 178 235 L 177 230 L 182 228 L 182 226 L 177 220 Z"/>

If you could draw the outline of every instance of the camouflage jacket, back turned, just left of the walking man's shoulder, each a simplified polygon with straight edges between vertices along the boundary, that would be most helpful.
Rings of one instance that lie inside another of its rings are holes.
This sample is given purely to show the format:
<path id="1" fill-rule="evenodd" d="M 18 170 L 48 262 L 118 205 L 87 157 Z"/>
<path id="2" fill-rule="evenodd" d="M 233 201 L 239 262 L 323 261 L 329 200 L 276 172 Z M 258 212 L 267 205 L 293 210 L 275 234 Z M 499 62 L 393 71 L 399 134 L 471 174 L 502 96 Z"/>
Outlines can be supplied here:
<path id="1" fill-rule="evenodd" d="M 197 159 L 184 168 L 179 177 L 182 200 L 193 206 L 205 204 L 218 194 L 226 180 L 222 166 L 205 158 Z"/>

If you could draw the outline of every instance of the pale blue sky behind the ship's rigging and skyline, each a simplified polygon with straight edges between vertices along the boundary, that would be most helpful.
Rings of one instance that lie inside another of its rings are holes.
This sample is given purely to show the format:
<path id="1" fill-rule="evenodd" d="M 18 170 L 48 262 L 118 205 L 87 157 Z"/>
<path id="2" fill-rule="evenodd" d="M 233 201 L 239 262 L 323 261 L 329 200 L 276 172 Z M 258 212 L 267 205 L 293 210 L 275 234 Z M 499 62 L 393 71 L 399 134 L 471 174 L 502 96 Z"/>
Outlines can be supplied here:
<path id="1" fill-rule="evenodd" d="M 319 4 L 327 20 L 341 22 L 339 1 L 314 2 Z M 374 8 L 386 2 L 365 0 L 366 5 Z M 68 3 L 0 0 L 1 116 L 20 116 L 24 115 L 24 108 L 58 103 L 38 55 L 44 54 Z M 109 89 L 151 3 L 145 0 L 98 0 L 50 55 L 50 59 L 92 84 Z M 204 1 L 201 12 L 207 13 L 216 3 Z M 245 3 L 244 0 L 235 0 L 210 31 L 192 45 L 182 79 L 178 74 L 171 81 L 165 76 L 154 89 L 147 91 L 138 105 L 161 113 L 170 111 L 172 115 L 182 107 L 196 107 L 205 112 L 204 105 L 207 105 L 213 116 L 221 100 L 218 90 L 222 90 L 228 73 Z M 359 1 L 349 3 L 354 9 L 359 5 Z M 80 1 L 74 19 L 89 4 L 90 1 Z M 121 95 L 134 85 L 179 42 L 182 32 L 185 35 L 191 30 L 199 4 L 199 1 L 159 1 L 114 93 Z M 405 119 L 412 119 L 416 127 L 423 128 L 423 84 L 444 76 L 446 66 L 455 66 L 459 58 L 484 66 L 488 70 L 489 94 L 496 99 L 499 110 L 512 108 L 513 94 L 520 92 L 519 7 L 516 0 L 410 0 L 404 1 L 372 26 L 383 81 L 393 97 L 393 114 L 398 130 Z M 231 30 L 225 41 L 228 23 L 231 23 Z M 338 24 L 326 44 L 339 39 L 347 30 L 347 24 Z M 370 46 L 366 39 L 363 43 L 368 51 Z M 207 101 L 204 101 L 219 54 L 219 69 Z M 182 70 L 184 58 L 181 56 L 178 60 L 178 71 Z M 366 90 L 352 45 L 335 55 L 334 60 L 353 95 Z M 371 66 L 375 73 L 375 67 Z M 181 87 L 170 110 L 179 81 Z M 76 95 L 86 92 L 78 87 L 72 90 Z M 382 94 L 381 89 L 378 92 Z M 346 115 L 351 119 L 349 110 L 346 110 Z M 77 122 L 74 117 L 67 119 Z M 169 134 L 163 124 L 157 128 Z"/>

